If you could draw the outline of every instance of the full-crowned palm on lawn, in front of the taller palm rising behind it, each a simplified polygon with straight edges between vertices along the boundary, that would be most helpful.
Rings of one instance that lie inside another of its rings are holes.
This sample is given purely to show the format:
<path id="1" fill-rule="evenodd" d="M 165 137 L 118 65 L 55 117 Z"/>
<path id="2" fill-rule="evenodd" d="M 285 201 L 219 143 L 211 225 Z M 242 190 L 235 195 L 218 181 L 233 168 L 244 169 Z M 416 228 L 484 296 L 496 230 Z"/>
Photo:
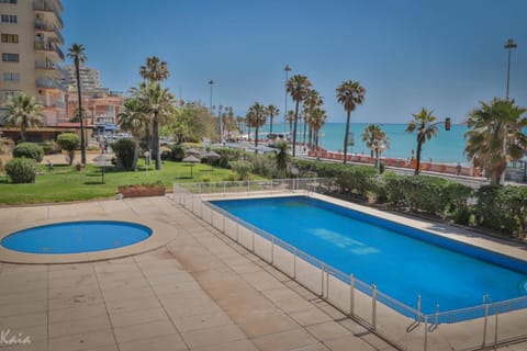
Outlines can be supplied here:
<path id="1" fill-rule="evenodd" d="M 139 88 L 131 89 L 134 98 L 145 107 L 150 115 L 153 134 L 153 158 L 156 161 L 156 170 L 161 169 L 161 154 L 159 152 L 159 125 L 168 118 L 175 110 L 176 98 L 158 82 L 139 84 Z"/>

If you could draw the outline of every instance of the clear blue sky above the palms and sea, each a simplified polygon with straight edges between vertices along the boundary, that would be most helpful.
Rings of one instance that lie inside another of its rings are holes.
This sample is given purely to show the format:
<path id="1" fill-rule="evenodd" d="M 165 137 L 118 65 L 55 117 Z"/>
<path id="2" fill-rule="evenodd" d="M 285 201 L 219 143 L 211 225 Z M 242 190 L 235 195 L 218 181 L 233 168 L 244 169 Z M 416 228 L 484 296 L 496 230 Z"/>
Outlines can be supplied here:
<path id="1" fill-rule="evenodd" d="M 168 63 L 164 84 L 186 101 L 233 106 L 258 101 L 283 115 L 283 67 L 324 97 L 329 122 L 344 80 L 366 88 L 352 122 L 406 123 L 425 106 L 462 122 L 480 101 L 527 106 L 525 0 L 63 0 L 65 50 L 86 46 L 104 87 L 126 92 L 148 56 Z M 288 110 L 293 106 L 289 99 Z"/>

